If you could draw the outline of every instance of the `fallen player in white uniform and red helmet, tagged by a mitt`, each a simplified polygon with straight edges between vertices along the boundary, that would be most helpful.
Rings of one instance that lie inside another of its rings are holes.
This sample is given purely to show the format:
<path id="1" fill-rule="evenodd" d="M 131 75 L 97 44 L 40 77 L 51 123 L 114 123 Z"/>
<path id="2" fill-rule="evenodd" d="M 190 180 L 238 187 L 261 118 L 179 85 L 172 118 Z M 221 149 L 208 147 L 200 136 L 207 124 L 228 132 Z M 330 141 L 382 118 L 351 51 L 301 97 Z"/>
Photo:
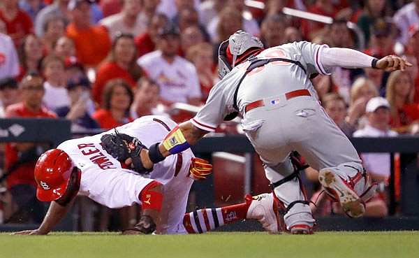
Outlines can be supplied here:
<path id="1" fill-rule="evenodd" d="M 109 208 L 142 204 L 135 227 L 122 234 L 203 233 L 236 220 L 256 219 L 270 233 L 279 230 L 278 205 L 272 194 L 245 196 L 245 202 L 184 214 L 194 180 L 203 180 L 212 165 L 184 150 L 144 169 L 139 153 L 159 143 L 176 124 L 167 117 L 145 116 L 103 134 L 76 138 L 38 159 L 36 196 L 52 201 L 38 229 L 14 234 L 48 234 L 84 194 Z M 138 139 L 141 139 L 139 141 Z"/>

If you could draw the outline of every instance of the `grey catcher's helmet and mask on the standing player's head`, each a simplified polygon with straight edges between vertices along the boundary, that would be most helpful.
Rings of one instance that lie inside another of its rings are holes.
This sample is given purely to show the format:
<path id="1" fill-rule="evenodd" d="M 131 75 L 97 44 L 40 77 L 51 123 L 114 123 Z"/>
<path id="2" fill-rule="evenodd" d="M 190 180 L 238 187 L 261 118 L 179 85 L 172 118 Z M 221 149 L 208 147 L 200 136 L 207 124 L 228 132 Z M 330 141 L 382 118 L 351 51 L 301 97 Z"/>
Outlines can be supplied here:
<path id="1" fill-rule="evenodd" d="M 254 48 L 263 48 L 263 43 L 246 31 L 236 31 L 223 41 L 219 47 L 219 78 L 222 79 L 234 68 L 237 57 Z"/>

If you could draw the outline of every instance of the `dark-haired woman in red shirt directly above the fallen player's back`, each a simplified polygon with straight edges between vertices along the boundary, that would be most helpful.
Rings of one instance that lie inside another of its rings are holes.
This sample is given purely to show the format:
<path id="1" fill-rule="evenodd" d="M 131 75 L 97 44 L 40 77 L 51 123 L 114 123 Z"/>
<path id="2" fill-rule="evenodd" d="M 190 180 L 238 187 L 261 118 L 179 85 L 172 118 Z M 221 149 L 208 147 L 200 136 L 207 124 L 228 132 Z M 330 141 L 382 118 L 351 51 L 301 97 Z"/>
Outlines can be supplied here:
<path id="1" fill-rule="evenodd" d="M 133 99 L 133 90 L 126 81 L 110 80 L 103 92 L 102 108 L 96 110 L 91 118 L 96 119 L 102 129 L 112 129 L 133 122 L 133 118 L 129 115 Z"/>

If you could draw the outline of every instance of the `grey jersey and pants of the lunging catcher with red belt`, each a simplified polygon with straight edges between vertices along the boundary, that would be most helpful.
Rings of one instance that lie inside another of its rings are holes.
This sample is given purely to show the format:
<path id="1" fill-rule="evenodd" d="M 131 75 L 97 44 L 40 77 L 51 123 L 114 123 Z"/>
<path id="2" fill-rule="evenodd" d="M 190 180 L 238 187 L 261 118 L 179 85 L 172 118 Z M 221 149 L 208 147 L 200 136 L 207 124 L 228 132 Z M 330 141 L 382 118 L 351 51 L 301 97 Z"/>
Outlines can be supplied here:
<path id="1" fill-rule="evenodd" d="M 292 59 L 300 62 L 306 72 L 293 63 L 270 62 L 253 69 L 240 85 L 237 106 L 244 117 L 242 127 L 267 166 L 277 166 L 292 150 L 300 152 L 314 169 L 345 162 L 360 164 L 351 142 L 321 108 L 309 80 L 312 73 L 328 75 L 332 71 L 332 66 L 321 62 L 325 49 L 327 45 L 302 41 L 263 50 L 256 57 Z M 212 88 L 207 103 L 191 120 L 196 127 L 214 131 L 223 117 L 234 111 L 234 92 L 249 64 L 247 61 L 236 66 Z M 307 89 L 311 96 L 287 100 L 285 94 L 297 89 Z M 263 100 L 265 106 L 244 113 L 248 103 L 258 100 Z M 275 176 L 267 178 L 276 182 Z"/>

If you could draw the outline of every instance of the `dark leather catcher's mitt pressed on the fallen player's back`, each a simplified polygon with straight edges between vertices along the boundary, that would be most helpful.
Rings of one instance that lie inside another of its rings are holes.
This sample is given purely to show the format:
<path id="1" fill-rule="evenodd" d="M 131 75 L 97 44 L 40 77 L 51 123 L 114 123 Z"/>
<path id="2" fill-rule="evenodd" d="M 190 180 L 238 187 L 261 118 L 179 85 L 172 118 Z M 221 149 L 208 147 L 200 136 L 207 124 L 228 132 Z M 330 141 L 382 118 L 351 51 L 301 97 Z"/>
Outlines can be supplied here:
<path id="1" fill-rule="evenodd" d="M 145 169 L 142 165 L 140 152 L 143 148 L 147 150 L 147 147 L 138 138 L 128 134 L 120 134 L 115 129 L 115 134 L 103 134 L 101 142 L 106 152 L 119 162 L 125 162 L 126 159 L 131 158 L 131 169 L 133 171 L 140 174 L 148 174 L 153 171 L 153 169 Z"/>

